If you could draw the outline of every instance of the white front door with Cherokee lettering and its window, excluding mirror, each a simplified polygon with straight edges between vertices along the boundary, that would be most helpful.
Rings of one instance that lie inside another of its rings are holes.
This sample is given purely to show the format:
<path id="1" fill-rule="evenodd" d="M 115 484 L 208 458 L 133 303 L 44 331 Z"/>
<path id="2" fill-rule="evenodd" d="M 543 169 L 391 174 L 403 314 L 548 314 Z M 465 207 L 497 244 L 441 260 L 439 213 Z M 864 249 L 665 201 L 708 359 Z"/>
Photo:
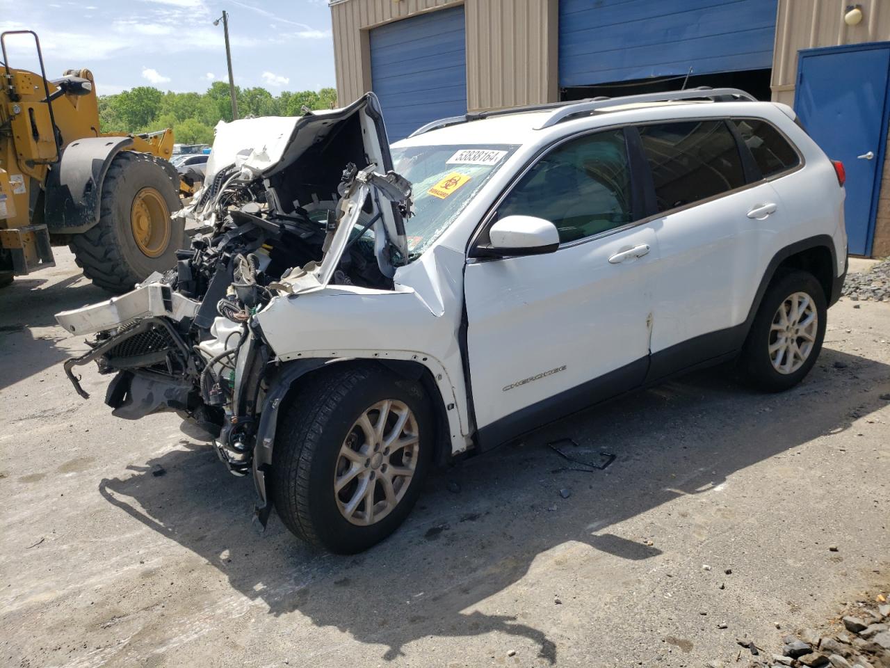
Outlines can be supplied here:
<path id="1" fill-rule="evenodd" d="M 561 245 L 466 265 L 483 449 L 642 384 L 658 248 L 634 201 L 625 136 L 611 130 L 547 153 L 498 206 L 551 221 Z"/>

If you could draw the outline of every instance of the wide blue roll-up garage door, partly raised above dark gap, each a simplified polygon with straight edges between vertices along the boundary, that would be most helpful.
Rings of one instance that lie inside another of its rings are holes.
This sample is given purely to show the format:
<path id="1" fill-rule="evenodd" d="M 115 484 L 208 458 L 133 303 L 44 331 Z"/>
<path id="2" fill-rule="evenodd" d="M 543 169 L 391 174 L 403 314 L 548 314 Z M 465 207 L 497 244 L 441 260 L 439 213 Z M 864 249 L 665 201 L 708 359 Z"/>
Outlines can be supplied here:
<path id="1" fill-rule="evenodd" d="M 560 86 L 773 67 L 777 0 L 560 0 Z"/>

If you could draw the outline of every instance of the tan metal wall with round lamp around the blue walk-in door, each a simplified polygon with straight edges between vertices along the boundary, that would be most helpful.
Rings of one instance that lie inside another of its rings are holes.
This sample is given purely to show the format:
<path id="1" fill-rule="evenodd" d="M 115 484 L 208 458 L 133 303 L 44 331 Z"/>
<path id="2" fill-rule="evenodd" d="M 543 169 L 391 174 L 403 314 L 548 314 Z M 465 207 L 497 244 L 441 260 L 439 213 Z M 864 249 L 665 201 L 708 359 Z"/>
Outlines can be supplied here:
<path id="1" fill-rule="evenodd" d="M 846 7 L 861 4 L 858 26 L 844 22 Z M 890 0 L 779 0 L 773 52 L 773 102 L 794 104 L 797 52 L 890 39 Z"/>

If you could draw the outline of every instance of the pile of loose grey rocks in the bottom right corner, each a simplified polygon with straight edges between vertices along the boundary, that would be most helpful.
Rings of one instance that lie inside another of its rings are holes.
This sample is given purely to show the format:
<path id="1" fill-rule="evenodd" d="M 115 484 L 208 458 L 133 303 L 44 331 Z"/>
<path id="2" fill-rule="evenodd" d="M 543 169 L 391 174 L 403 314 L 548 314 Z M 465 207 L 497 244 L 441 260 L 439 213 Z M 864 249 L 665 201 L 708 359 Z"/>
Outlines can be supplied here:
<path id="1" fill-rule="evenodd" d="M 803 629 L 782 639 L 781 654 L 768 662 L 754 661 L 762 668 L 890 668 L 890 606 L 886 595 L 872 601 L 859 601 L 840 618 L 843 629 L 818 631 Z M 737 639 L 746 647 L 748 641 Z M 753 643 L 750 643 L 753 647 Z M 752 652 L 753 654 L 753 652 Z"/>

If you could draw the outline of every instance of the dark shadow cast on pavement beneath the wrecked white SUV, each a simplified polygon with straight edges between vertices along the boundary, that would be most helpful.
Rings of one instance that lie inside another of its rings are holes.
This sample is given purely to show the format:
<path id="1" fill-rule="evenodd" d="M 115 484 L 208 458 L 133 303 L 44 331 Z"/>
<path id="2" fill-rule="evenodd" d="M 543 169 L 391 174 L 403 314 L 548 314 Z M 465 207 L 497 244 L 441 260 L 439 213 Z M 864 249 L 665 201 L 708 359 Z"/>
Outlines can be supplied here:
<path id="1" fill-rule="evenodd" d="M 843 371 L 834 363 L 845 364 Z M 556 640 L 523 622 L 515 591 L 506 604 L 515 616 L 477 606 L 530 574 L 538 555 L 567 542 L 628 560 L 659 555 L 609 527 L 849 428 L 885 405 L 878 395 L 890 391 L 890 367 L 830 349 L 800 387 L 782 395 L 755 394 L 725 377 L 701 372 L 467 460 L 433 477 L 409 521 L 355 557 L 313 551 L 274 517 L 258 537 L 249 521 L 249 480 L 232 480 L 206 445 L 183 440 L 182 449 L 134 468 L 132 477 L 103 480 L 100 492 L 219 568 L 231 587 L 262 599 L 272 615 L 299 611 L 317 626 L 385 646 L 385 660 L 417 639 L 498 631 L 530 639 L 556 664 Z M 546 443 L 563 437 L 578 443 L 581 458 L 603 450 L 617 459 L 604 471 L 556 473 L 565 462 Z M 161 469 L 166 474 L 158 477 Z M 460 493 L 449 493 L 447 481 L 458 482 Z M 563 487 L 571 488 L 570 499 L 556 493 Z M 540 582 L 547 579 L 529 582 L 523 586 L 546 586 Z M 547 619 L 536 609 L 536 618 L 542 615 Z"/>

